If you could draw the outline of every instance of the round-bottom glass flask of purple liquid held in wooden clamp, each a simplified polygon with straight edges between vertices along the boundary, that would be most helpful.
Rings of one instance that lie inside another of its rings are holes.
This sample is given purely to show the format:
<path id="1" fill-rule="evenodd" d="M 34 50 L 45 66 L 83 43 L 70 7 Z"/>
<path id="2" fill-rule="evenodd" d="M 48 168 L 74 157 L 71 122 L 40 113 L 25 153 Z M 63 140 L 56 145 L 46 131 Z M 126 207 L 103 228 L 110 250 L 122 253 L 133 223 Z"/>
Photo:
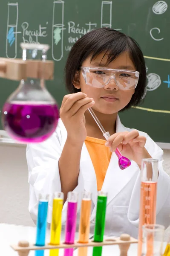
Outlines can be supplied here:
<path id="1" fill-rule="evenodd" d="M 23 60 L 46 60 L 48 45 L 21 44 Z M 39 143 L 55 131 L 59 118 L 58 105 L 45 87 L 43 78 L 21 80 L 17 90 L 7 99 L 2 123 L 14 140 Z"/>

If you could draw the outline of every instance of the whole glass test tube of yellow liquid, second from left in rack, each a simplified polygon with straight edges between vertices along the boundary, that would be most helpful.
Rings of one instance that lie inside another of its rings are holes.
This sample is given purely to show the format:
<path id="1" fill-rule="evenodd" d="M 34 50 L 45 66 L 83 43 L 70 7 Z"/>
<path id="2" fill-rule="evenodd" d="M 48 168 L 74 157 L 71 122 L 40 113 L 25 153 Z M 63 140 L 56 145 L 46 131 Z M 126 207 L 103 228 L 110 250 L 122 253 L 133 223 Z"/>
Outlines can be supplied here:
<path id="1" fill-rule="evenodd" d="M 52 206 L 52 223 L 50 244 L 60 244 L 61 236 L 61 213 L 63 209 L 63 192 L 55 192 Z M 59 250 L 50 250 L 50 256 L 58 256 Z"/>

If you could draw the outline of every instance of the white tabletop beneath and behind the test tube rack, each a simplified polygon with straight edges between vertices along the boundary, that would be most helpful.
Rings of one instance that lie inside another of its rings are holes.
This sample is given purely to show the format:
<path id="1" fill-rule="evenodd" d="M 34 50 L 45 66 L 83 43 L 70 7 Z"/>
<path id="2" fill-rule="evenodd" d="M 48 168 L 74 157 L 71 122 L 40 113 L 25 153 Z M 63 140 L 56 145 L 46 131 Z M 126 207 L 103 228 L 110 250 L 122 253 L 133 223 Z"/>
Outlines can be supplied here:
<path id="1" fill-rule="evenodd" d="M 19 240 L 27 240 L 35 243 L 36 228 L 17 226 L 11 224 L 0 224 L 0 256 L 18 256 L 10 244 L 17 244 Z M 49 242 L 50 230 L 46 233 L 46 242 Z M 90 235 L 91 236 L 91 235 Z M 78 233 L 75 235 L 78 239 Z M 61 233 L 61 241 L 64 241 L 64 232 Z M 167 243 L 164 243 L 164 248 Z M 138 244 L 131 244 L 128 250 L 128 256 L 137 256 Z M 78 255 L 78 250 L 74 251 L 74 256 Z M 119 256 L 120 250 L 118 245 L 104 246 L 102 256 Z M 35 256 L 35 251 L 30 251 L 29 256 Z M 44 251 L 44 256 L 49 256 L 49 250 Z M 63 250 L 60 250 L 59 256 L 63 256 Z M 92 247 L 88 248 L 88 256 L 92 256 Z"/>

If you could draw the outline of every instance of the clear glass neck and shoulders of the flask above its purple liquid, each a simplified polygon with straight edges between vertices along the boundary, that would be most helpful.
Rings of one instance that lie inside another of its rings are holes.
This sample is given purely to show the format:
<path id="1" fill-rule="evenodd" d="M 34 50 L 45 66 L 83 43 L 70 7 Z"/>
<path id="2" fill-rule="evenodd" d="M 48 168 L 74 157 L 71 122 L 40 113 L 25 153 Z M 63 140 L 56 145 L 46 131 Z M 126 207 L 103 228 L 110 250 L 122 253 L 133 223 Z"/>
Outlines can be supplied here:
<path id="1" fill-rule="evenodd" d="M 26 61 L 28 64 L 28 74 L 26 79 L 20 81 L 20 85 L 14 93 L 9 96 L 8 102 L 48 102 L 48 104 L 56 104 L 51 94 L 46 90 L 43 78 L 43 72 L 46 70 L 44 70 L 45 65 L 42 62 L 46 61 L 46 53 L 49 46 L 46 44 L 21 43 L 21 47 L 23 50 L 23 61 Z"/>

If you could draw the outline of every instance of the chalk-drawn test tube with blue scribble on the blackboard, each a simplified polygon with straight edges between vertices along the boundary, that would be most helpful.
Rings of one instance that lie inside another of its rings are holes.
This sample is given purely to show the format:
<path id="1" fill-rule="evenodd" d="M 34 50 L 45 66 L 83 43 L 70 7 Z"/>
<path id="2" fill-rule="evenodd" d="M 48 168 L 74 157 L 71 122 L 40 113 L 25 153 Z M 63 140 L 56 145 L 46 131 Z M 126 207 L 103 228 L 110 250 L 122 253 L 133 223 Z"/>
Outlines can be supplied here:
<path id="1" fill-rule="evenodd" d="M 17 57 L 18 3 L 8 3 L 6 57 Z"/>

